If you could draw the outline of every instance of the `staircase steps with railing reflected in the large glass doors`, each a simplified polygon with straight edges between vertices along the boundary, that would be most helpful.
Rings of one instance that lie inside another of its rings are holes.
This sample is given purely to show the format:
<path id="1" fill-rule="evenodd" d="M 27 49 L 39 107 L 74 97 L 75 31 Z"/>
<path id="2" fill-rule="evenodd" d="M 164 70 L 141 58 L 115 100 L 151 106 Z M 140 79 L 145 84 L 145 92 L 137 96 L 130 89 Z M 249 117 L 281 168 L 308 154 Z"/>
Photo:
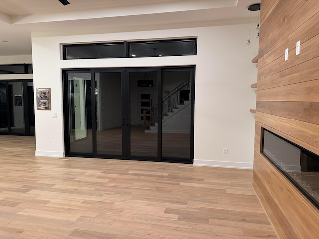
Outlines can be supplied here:
<path id="1" fill-rule="evenodd" d="M 162 122 L 164 123 L 178 112 L 182 112 L 190 105 L 190 78 L 175 87 L 162 101 Z M 185 100 L 186 99 L 186 100 Z M 146 115 L 149 114 L 149 120 Z M 158 130 L 158 104 L 155 104 L 150 109 L 144 111 L 144 132 L 155 133 Z"/>

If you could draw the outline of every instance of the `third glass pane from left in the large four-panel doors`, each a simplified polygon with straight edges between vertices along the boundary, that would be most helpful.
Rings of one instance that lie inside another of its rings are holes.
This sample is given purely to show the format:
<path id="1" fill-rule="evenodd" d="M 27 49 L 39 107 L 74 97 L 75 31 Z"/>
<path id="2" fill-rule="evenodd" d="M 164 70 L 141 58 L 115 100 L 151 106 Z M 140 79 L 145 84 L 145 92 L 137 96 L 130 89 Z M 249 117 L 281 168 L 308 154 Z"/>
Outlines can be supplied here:
<path id="1" fill-rule="evenodd" d="M 130 72 L 130 155 L 158 155 L 158 72 Z"/>

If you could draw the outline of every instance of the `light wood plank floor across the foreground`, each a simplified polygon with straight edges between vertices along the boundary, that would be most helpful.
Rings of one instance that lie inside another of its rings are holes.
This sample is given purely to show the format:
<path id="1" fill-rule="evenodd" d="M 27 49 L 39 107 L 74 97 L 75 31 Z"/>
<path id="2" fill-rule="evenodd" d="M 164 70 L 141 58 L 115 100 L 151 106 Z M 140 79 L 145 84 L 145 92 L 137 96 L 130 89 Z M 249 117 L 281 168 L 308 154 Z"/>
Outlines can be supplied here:
<path id="1" fill-rule="evenodd" d="M 276 239 L 252 170 L 0 151 L 1 239 Z"/>

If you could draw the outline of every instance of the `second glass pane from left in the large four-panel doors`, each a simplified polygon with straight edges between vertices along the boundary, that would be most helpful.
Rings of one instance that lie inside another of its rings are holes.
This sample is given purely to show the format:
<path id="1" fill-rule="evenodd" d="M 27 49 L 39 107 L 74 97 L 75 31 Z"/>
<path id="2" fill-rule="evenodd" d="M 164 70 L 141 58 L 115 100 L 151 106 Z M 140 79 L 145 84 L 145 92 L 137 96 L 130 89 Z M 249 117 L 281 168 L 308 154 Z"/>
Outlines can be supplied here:
<path id="1" fill-rule="evenodd" d="M 96 153 L 122 155 L 121 72 L 95 73 Z"/>

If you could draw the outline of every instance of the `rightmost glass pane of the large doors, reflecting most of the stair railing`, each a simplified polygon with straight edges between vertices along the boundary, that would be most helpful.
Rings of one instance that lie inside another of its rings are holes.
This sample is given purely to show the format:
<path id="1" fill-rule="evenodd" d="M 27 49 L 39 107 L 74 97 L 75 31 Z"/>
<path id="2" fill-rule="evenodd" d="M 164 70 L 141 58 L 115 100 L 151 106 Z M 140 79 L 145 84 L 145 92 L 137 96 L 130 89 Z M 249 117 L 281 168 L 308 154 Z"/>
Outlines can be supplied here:
<path id="1" fill-rule="evenodd" d="M 191 75 L 190 70 L 162 73 L 163 157 L 191 157 Z"/>

